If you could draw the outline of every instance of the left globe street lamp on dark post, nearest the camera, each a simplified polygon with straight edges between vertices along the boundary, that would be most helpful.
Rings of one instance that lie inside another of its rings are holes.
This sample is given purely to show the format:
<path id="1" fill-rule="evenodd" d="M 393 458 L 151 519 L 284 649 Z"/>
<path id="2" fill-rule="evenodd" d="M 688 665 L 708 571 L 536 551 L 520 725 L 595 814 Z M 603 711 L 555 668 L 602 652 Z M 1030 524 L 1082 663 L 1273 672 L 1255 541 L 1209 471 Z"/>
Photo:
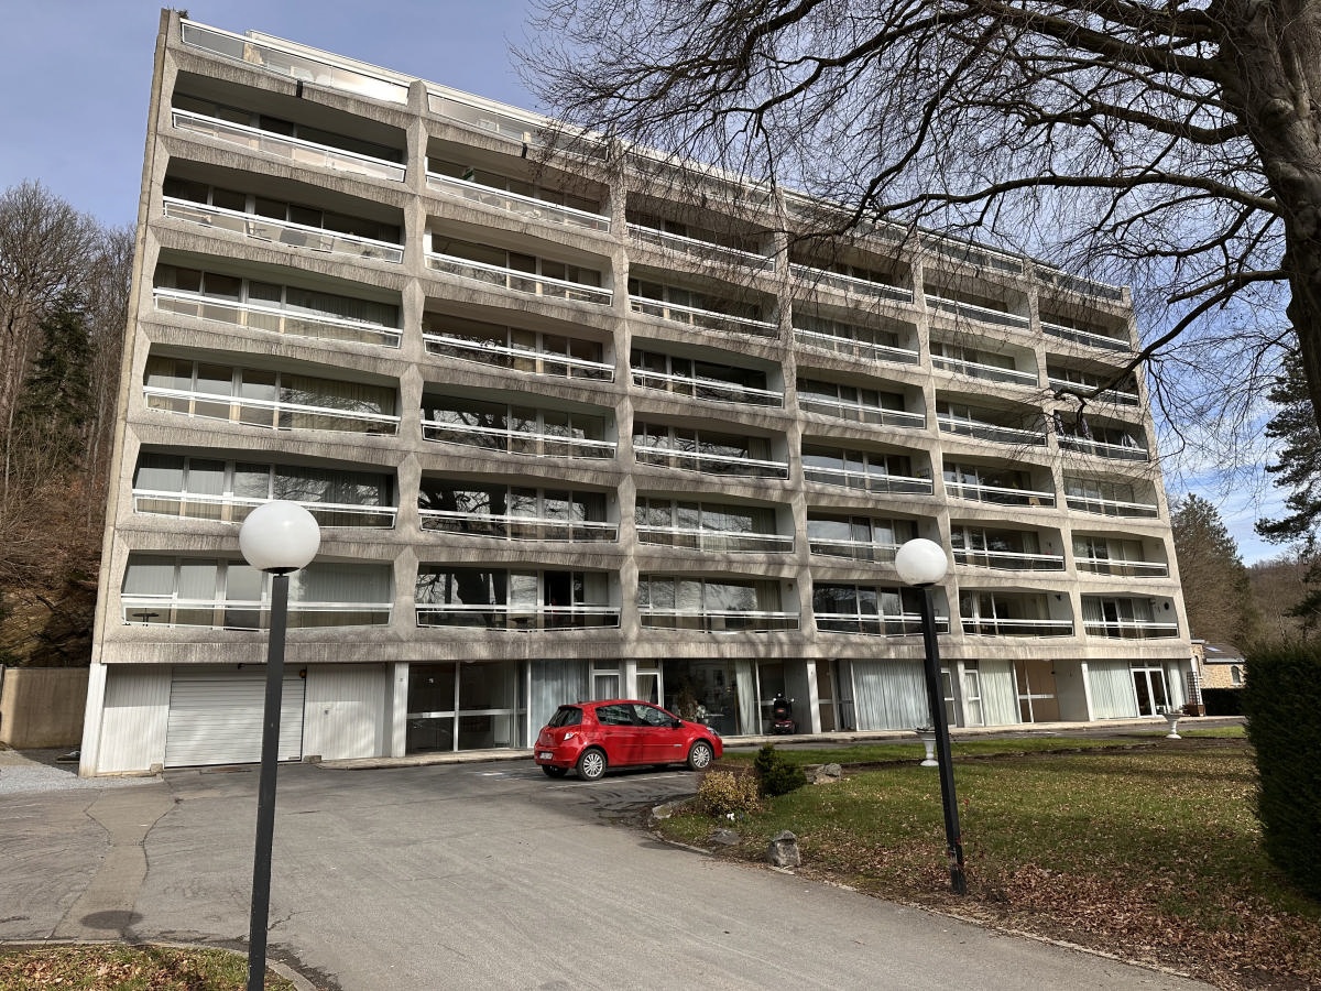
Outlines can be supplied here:
<path id="1" fill-rule="evenodd" d="M 284 629 L 289 612 L 289 572 L 306 567 L 321 546 L 321 527 L 296 502 L 267 502 L 239 527 L 239 550 L 258 571 L 271 575 L 271 637 L 262 717 L 262 778 L 256 799 L 256 852 L 252 858 L 252 917 L 248 924 L 247 991 L 266 987 L 266 928 L 271 914 L 271 840 L 275 834 L 275 770 L 280 749 L 284 687 Z"/>

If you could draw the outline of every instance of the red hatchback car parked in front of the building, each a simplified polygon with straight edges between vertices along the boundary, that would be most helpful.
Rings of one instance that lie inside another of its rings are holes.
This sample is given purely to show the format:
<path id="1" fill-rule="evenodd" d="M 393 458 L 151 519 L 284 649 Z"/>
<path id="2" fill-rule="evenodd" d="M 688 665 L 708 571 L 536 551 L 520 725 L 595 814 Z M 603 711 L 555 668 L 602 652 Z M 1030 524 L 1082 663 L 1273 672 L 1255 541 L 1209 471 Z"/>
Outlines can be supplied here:
<path id="1" fill-rule="evenodd" d="M 561 778 L 577 768 L 596 781 L 606 768 L 687 764 L 705 770 L 724 753 L 720 733 L 688 723 L 650 702 L 609 699 L 560 706 L 536 737 L 535 760 L 547 777 Z"/>

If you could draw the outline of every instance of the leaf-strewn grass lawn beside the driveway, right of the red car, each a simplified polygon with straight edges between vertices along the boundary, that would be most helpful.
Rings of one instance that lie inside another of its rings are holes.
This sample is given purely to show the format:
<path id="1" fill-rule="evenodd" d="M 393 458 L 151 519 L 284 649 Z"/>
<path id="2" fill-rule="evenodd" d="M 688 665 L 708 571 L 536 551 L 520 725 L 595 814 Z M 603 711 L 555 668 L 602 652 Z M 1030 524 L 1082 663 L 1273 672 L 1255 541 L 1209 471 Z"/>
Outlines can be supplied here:
<path id="1" fill-rule="evenodd" d="M 1321 987 L 1321 904 L 1260 850 L 1256 769 L 1236 729 L 1115 740 L 954 744 L 968 895 L 948 891 L 941 784 L 921 744 L 783 751 L 844 778 L 764 802 L 740 843 L 684 813 L 671 839 L 764 862 L 781 830 L 799 873 L 886 899 L 1172 967 L 1225 988 Z M 721 768 L 750 765 L 727 754 Z"/>

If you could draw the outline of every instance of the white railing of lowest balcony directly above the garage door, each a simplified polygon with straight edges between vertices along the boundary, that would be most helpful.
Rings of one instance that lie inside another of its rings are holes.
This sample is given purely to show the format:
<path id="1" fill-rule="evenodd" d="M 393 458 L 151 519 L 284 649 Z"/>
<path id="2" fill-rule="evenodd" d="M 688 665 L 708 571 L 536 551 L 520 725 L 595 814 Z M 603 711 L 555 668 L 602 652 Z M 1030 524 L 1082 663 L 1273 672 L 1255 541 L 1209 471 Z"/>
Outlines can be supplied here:
<path id="1" fill-rule="evenodd" d="M 271 628 L 271 604 L 263 601 L 122 596 L 120 608 L 125 626 L 205 626 L 215 630 Z M 392 603 L 291 601 L 288 626 L 387 626 L 392 610 Z"/>

